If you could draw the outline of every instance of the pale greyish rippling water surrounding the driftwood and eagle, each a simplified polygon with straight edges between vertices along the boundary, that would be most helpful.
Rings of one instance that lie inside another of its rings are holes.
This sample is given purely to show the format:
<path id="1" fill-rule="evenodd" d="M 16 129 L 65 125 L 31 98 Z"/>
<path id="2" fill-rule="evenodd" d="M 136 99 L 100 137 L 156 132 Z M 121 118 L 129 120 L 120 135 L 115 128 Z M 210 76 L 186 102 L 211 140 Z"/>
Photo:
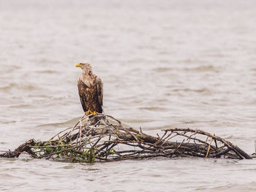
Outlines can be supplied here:
<path id="1" fill-rule="evenodd" d="M 255 1 L 0 0 L 0 150 L 83 115 L 91 61 L 105 111 L 147 134 L 200 128 L 254 153 Z M 0 159 L 0 191 L 255 191 L 255 160 L 110 164 Z"/>

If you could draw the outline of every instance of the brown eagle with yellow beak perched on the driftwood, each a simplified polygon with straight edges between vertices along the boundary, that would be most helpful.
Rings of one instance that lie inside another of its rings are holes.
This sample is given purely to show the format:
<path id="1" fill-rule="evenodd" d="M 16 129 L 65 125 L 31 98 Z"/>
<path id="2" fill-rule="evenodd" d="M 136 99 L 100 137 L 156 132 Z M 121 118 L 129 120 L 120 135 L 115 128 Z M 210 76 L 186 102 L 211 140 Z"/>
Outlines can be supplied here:
<path id="1" fill-rule="evenodd" d="M 83 70 L 82 76 L 78 78 L 78 93 L 86 114 L 102 113 L 103 85 L 99 76 L 92 73 L 91 64 L 77 64 Z"/>

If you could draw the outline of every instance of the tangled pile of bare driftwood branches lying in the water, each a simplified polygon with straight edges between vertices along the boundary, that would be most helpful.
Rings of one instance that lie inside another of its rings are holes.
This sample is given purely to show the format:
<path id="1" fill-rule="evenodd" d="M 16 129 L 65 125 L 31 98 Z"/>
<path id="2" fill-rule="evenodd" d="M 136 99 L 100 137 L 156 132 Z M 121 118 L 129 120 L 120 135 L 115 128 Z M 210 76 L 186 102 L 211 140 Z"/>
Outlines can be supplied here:
<path id="1" fill-rule="evenodd" d="M 20 153 L 65 162 L 155 157 L 252 158 L 231 142 L 206 131 L 170 128 L 162 130 L 162 136 L 153 137 L 141 129 L 126 128 L 119 120 L 103 114 L 84 115 L 75 126 L 64 129 L 48 141 L 30 139 L 0 157 L 18 158 Z"/>

